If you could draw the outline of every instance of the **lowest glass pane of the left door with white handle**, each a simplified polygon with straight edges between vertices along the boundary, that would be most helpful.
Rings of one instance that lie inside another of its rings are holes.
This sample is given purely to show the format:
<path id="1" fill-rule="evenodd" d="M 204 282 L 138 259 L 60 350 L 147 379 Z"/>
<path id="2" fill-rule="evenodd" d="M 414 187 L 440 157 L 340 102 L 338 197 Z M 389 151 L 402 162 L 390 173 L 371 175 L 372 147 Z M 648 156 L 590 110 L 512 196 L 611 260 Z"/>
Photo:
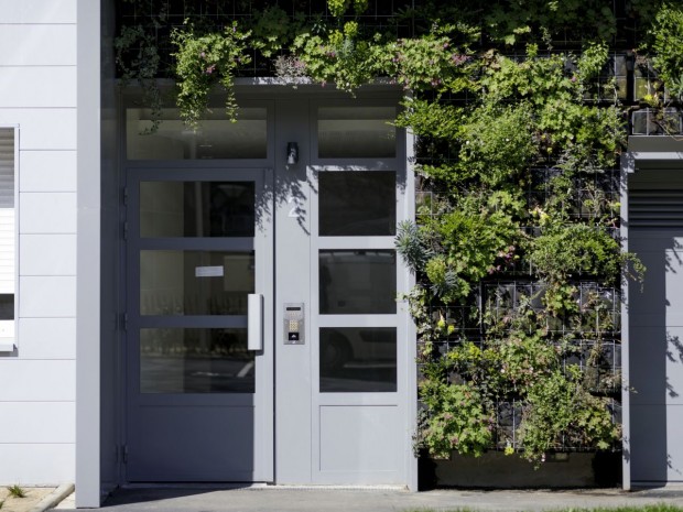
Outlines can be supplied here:
<path id="1" fill-rule="evenodd" d="M 253 393 L 246 329 L 140 329 L 142 393 Z"/>

